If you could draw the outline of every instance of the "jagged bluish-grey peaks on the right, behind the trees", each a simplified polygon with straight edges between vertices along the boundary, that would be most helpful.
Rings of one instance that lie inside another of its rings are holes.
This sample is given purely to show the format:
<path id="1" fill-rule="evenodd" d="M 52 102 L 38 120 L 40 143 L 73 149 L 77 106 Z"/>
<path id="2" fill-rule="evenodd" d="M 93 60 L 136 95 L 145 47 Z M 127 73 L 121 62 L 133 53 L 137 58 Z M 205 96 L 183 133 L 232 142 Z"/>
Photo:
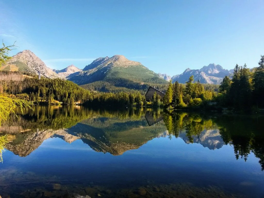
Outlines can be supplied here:
<path id="1" fill-rule="evenodd" d="M 220 84 L 225 76 L 232 76 L 232 69 L 223 69 L 221 65 L 214 63 L 204 66 L 201 69 L 187 68 L 182 74 L 172 77 L 172 82 L 178 81 L 179 83 L 185 83 L 190 76 L 194 76 L 194 81 L 200 81 L 201 83 Z"/>

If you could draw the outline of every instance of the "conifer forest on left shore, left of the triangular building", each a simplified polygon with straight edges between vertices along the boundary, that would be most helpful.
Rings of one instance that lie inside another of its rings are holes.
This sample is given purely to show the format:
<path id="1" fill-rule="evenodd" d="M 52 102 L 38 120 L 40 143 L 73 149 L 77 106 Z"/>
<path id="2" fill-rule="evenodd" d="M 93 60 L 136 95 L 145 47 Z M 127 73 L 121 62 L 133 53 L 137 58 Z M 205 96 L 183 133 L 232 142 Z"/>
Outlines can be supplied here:
<path id="1" fill-rule="evenodd" d="M 71 81 L 58 78 L 41 78 L 39 80 L 37 76 L 25 77 L 14 72 L 2 72 L 0 78 L 0 88 L 3 92 L 17 94 L 21 99 L 35 101 L 35 103 L 53 104 L 59 101 L 63 104 L 73 105 L 78 101 L 83 105 L 120 107 L 147 104 L 145 96 L 135 90 L 117 93 L 89 91 Z"/>

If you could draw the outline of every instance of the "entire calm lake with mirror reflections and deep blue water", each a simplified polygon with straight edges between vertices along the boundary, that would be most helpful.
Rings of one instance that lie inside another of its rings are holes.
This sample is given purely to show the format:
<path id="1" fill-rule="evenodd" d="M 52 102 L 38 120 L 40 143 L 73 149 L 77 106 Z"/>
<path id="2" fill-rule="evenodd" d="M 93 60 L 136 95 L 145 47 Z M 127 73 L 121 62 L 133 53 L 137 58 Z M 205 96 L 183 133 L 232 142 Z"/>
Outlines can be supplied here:
<path id="1" fill-rule="evenodd" d="M 34 106 L 0 128 L 0 195 L 263 197 L 264 117 Z"/>

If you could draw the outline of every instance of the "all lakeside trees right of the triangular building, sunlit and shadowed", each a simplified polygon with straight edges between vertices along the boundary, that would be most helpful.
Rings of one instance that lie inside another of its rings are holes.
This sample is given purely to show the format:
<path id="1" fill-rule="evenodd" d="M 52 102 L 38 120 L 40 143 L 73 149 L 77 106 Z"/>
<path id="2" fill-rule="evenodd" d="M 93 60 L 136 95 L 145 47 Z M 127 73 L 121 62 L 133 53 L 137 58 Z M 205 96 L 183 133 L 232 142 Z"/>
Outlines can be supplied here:
<path id="1" fill-rule="evenodd" d="M 216 102 L 215 106 L 222 109 L 226 107 L 235 111 L 250 111 L 264 107 L 264 55 L 258 63 L 258 67 L 250 71 L 247 65 L 234 68 L 233 78 L 225 76 L 219 86 L 219 93 L 207 88 L 199 82 L 195 83 L 190 76 L 185 85 L 177 81 L 169 87 L 163 99 L 166 108 L 182 109 L 188 107 L 208 108 L 208 102 Z M 218 90 L 218 89 L 217 89 Z M 157 97 L 154 95 L 154 97 Z M 153 101 L 159 100 L 154 98 Z M 159 101 L 157 105 L 162 105 Z M 217 108 L 216 107 L 216 108 Z M 211 109 L 214 106 L 210 107 Z"/>

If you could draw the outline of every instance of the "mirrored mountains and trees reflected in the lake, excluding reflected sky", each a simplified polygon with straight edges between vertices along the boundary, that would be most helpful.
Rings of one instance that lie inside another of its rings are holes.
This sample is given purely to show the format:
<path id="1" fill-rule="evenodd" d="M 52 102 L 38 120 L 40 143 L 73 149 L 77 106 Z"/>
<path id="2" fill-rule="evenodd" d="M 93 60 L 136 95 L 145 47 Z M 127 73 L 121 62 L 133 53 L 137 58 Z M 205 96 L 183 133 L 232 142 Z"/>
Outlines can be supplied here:
<path id="1" fill-rule="evenodd" d="M 177 138 L 182 139 L 186 144 L 200 144 L 210 150 L 231 145 L 234 149 L 233 158 L 242 158 L 244 163 L 247 163 L 249 155 L 253 153 L 260 164 L 258 170 L 258 174 L 261 174 L 260 180 L 264 178 L 264 118 L 262 116 L 167 113 L 162 109 L 146 108 L 95 110 L 81 106 L 34 106 L 33 109 L 34 111 L 28 110 L 23 115 L 18 113 L 17 117 L 11 115 L 0 128 L 3 135 L 9 135 L 6 149 L 20 157 L 30 156 L 44 140 L 50 138 L 60 138 L 70 144 L 82 141 L 96 152 L 120 156 L 129 150 L 135 150 L 138 154 L 144 152 L 144 149 L 139 149 L 142 145 L 154 138 L 166 137 L 171 141 Z M 194 152 L 199 150 L 200 148 Z M 161 152 L 168 151 L 171 152 L 171 150 Z M 224 156 L 221 157 L 224 159 Z M 3 156 L 3 160 L 5 163 L 8 158 Z M 169 164 L 171 165 L 173 164 Z M 2 185 L 1 177 L 0 185 Z"/>

